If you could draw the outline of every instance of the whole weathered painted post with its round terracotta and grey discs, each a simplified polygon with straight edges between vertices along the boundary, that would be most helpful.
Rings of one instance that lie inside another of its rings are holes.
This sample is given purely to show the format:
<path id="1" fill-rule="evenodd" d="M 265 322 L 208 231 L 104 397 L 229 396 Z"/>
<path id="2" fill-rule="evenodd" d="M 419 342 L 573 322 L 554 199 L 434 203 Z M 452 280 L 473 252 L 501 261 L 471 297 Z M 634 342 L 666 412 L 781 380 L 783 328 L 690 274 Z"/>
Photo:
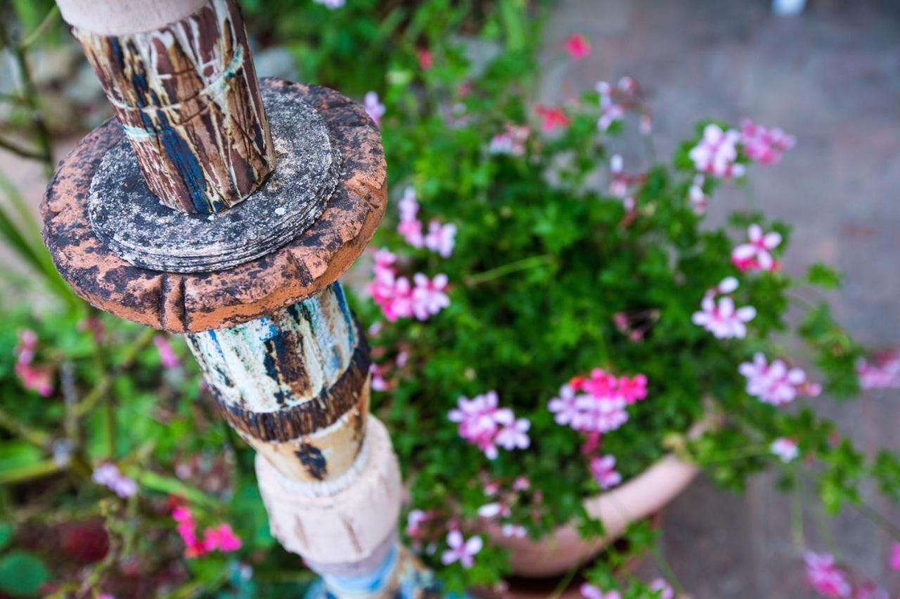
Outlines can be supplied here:
<path id="1" fill-rule="evenodd" d="M 59 272 L 94 306 L 186 334 L 317 593 L 434 594 L 397 541 L 400 470 L 338 282 L 387 201 L 374 123 L 329 89 L 257 83 L 233 0 L 58 4 L 118 119 L 49 183 Z"/>

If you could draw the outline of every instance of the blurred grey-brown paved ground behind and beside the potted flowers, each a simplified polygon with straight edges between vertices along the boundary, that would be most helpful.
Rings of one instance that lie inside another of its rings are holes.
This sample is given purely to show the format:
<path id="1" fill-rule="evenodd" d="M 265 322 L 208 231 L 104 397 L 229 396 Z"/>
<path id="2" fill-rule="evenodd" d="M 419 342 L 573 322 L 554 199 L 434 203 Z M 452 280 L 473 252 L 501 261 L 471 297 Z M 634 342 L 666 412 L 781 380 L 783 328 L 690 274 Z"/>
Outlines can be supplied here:
<path id="1" fill-rule="evenodd" d="M 763 0 L 563 0 L 548 53 L 575 31 L 593 51 L 549 71 L 543 100 L 635 76 L 656 117 L 660 156 L 703 117 L 750 115 L 797 135 L 779 165 L 752 173 L 758 205 L 796 224 L 786 268 L 837 264 L 847 273 L 832 298 L 842 322 L 866 344 L 898 344 L 900 3 L 809 4 L 800 17 L 778 18 Z M 710 218 L 746 201 L 743 192 L 720 194 Z M 900 450 L 900 393 L 818 404 L 867 450 Z M 890 540 L 855 514 L 836 528 L 842 557 L 900 594 L 900 573 L 886 564 Z M 743 497 L 699 481 L 667 511 L 663 537 L 671 567 L 698 599 L 815 596 L 791 543 L 788 500 L 770 480 Z M 810 539 L 827 548 L 815 532 Z"/>

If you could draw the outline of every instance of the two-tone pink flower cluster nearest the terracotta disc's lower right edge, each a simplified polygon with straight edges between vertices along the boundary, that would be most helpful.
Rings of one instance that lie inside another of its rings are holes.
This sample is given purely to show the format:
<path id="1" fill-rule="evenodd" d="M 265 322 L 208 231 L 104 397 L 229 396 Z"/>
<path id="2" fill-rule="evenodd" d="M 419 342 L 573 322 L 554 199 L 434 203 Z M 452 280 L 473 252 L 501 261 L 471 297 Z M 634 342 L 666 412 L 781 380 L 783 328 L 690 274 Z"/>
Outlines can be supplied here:
<path id="1" fill-rule="evenodd" d="M 396 262 L 397 255 L 386 249 L 375 252 L 374 279 L 368 289 L 384 317 L 392 322 L 413 316 L 427 320 L 450 305 L 446 274 L 428 279 L 425 274 L 416 273 L 410 283 L 407 277 L 397 275 Z"/>

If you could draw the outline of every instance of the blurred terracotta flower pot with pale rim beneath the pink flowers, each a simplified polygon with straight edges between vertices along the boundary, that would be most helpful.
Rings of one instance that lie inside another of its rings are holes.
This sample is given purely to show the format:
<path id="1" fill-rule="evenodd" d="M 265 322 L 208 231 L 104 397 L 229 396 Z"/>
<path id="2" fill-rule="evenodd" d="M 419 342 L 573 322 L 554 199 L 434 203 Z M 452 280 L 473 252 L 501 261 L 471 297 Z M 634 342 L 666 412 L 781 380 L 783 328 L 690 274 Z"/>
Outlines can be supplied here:
<path id="1" fill-rule="evenodd" d="M 491 539 L 510 551 L 513 573 L 522 577 L 551 577 L 596 556 L 625 532 L 628 524 L 658 512 L 678 496 L 697 476 L 698 467 L 667 455 L 623 485 L 585 499 L 588 514 L 599 518 L 607 535 L 585 541 L 574 524 L 559 527 L 535 541 L 528 537 L 504 537 L 491 525 Z"/>

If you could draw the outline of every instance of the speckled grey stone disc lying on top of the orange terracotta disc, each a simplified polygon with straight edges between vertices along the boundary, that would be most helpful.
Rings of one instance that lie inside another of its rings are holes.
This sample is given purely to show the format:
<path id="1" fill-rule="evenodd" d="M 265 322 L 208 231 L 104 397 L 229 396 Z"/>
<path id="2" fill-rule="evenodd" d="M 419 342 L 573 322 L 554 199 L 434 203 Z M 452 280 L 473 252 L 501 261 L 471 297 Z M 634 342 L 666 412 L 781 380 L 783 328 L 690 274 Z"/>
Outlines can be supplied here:
<path id="1" fill-rule="evenodd" d="M 91 182 L 88 215 L 97 237 L 136 266 L 199 273 L 247 263 L 309 228 L 334 192 L 340 152 L 319 113 L 297 94 L 268 87 L 263 104 L 275 171 L 246 201 L 212 215 L 172 210 L 150 192 L 121 139 Z"/>

